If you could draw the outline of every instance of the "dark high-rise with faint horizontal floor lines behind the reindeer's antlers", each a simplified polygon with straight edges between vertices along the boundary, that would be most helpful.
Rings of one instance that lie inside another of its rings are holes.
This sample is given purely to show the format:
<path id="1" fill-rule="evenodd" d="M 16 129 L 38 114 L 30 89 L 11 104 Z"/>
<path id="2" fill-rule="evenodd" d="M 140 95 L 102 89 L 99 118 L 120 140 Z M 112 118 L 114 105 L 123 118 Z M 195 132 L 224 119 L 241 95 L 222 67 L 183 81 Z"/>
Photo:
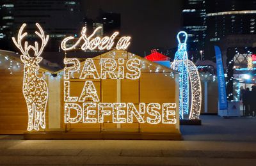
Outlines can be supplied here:
<path id="1" fill-rule="evenodd" d="M 79 0 L 22 0 L 14 3 L 15 32 L 21 24 L 26 23 L 29 39 L 34 40 L 35 23 L 38 22 L 50 35 L 51 45 L 47 49 L 58 51 L 60 41 L 65 36 L 79 36 L 83 27 L 83 16 L 79 9 Z"/>

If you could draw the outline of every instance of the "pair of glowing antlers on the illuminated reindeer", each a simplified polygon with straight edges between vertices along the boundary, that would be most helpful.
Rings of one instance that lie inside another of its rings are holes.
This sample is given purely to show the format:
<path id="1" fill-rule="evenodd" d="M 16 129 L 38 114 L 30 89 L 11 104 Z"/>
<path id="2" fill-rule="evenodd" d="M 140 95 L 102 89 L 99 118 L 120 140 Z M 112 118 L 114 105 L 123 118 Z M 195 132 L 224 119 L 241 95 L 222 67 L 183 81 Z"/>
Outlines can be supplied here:
<path id="1" fill-rule="evenodd" d="M 40 33 L 38 33 L 38 31 L 35 31 L 35 33 L 37 34 L 37 36 L 40 37 L 40 39 L 42 40 L 42 45 L 40 50 L 38 49 L 38 42 L 35 41 L 35 47 L 32 45 L 28 45 L 28 41 L 25 41 L 24 43 L 24 49 L 22 47 L 21 44 L 21 40 L 28 34 L 28 33 L 23 33 L 22 31 L 24 30 L 24 27 L 26 27 L 26 24 L 22 24 L 22 26 L 20 27 L 18 36 L 17 36 L 17 41 L 15 40 L 14 37 L 12 37 L 13 43 L 16 45 L 16 47 L 21 51 L 21 53 L 24 56 L 29 56 L 28 51 L 29 49 L 33 49 L 35 51 L 35 57 L 40 56 L 40 54 L 42 54 L 42 51 L 44 50 L 45 45 L 47 44 L 47 41 L 49 40 L 49 35 L 46 36 L 45 38 L 45 34 L 44 34 L 44 30 L 42 29 L 42 27 L 36 23 L 36 27 L 38 27 Z"/>

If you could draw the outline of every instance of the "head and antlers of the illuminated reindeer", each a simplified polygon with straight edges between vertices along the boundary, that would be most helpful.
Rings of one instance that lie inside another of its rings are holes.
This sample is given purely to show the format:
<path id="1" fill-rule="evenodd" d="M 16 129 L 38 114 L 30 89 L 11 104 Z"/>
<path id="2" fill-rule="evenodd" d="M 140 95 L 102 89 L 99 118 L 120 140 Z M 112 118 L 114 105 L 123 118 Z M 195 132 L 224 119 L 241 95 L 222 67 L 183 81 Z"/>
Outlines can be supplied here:
<path id="1" fill-rule="evenodd" d="M 25 41 L 23 46 L 21 41 L 28 34 L 28 33 L 22 33 L 22 31 L 24 30 L 24 27 L 26 27 L 26 24 L 22 24 L 22 26 L 20 27 L 17 40 L 15 40 L 14 37 L 12 37 L 12 40 L 13 40 L 13 43 L 15 43 L 16 47 L 22 53 L 22 55 L 20 56 L 20 59 L 22 63 L 24 63 L 24 68 L 29 69 L 30 72 L 35 72 L 40 68 L 38 63 L 40 63 L 40 61 L 42 61 L 43 59 L 42 57 L 40 57 L 40 55 L 42 54 L 44 47 L 47 44 L 47 41 L 49 40 L 49 35 L 47 35 L 45 38 L 45 34 L 42 27 L 38 23 L 36 23 L 36 27 L 38 27 L 40 33 L 38 33 L 38 31 L 35 31 L 35 34 L 39 36 L 40 39 L 42 40 L 42 45 L 40 49 L 38 48 L 37 41 L 35 41 L 35 46 L 28 45 L 28 41 Z M 29 55 L 29 52 L 31 52 L 31 50 L 33 50 L 34 56 Z"/>

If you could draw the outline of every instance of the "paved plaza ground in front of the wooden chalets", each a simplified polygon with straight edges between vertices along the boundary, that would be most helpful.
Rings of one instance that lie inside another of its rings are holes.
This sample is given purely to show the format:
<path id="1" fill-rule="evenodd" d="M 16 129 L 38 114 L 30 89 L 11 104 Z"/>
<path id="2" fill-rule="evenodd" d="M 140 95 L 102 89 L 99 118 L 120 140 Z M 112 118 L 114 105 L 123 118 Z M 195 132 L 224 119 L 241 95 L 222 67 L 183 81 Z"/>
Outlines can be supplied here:
<path id="1" fill-rule="evenodd" d="M 256 165 L 256 118 L 201 116 L 182 141 L 22 140 L 0 135 L 0 165 Z"/>

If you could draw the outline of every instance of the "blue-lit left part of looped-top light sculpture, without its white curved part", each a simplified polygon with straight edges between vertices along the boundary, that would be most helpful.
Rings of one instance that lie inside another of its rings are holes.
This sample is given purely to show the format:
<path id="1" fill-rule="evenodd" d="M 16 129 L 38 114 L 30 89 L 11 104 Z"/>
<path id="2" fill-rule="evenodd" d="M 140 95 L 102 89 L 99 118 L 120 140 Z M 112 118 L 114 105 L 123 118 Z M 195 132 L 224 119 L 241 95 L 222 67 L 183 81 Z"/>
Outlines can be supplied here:
<path id="1" fill-rule="evenodd" d="M 184 38 L 182 42 L 181 39 Z M 172 69 L 180 72 L 179 77 L 179 114 L 180 119 L 183 119 L 184 115 L 189 114 L 189 73 L 188 73 L 188 52 L 187 52 L 187 40 L 188 34 L 184 31 L 180 31 L 177 34 L 177 40 L 179 41 L 178 50 L 175 53 L 174 61 L 172 63 Z"/>

